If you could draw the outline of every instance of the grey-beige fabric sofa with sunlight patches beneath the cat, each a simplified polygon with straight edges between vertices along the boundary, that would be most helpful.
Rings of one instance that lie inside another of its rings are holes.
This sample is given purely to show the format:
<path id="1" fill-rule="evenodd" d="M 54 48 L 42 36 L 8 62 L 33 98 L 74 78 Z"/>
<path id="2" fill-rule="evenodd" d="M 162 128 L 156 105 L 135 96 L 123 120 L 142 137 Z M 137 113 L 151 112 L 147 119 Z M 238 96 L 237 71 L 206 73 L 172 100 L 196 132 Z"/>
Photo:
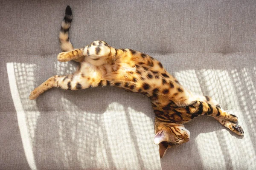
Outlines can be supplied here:
<path id="1" fill-rule="evenodd" d="M 1 170 L 255 170 L 256 1 L 1 0 Z M 65 8 L 70 40 L 144 52 L 194 92 L 239 117 L 237 136 L 209 116 L 160 159 L 150 99 L 115 87 L 29 93 L 76 62 L 58 62 Z"/>

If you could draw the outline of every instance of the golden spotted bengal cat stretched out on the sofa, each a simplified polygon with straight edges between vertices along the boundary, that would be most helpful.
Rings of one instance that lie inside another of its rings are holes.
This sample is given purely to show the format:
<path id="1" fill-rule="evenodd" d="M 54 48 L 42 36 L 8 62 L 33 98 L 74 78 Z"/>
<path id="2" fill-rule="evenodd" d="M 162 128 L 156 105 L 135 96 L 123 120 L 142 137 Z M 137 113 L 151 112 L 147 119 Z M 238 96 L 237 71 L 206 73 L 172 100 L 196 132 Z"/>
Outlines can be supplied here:
<path id="1" fill-rule="evenodd" d="M 153 57 L 131 49 L 116 49 L 100 40 L 74 49 L 68 36 L 71 21 L 71 8 L 67 6 L 59 34 L 64 52 L 57 58 L 60 62 L 75 60 L 80 67 L 73 74 L 50 77 L 31 92 L 29 99 L 36 99 L 53 87 L 79 90 L 111 85 L 144 94 L 151 99 L 155 113 L 154 143 L 159 144 L 160 157 L 168 147 L 189 141 L 190 133 L 183 124 L 196 116 L 212 116 L 234 133 L 243 135 L 237 116 L 224 111 L 209 96 L 192 94 Z"/>

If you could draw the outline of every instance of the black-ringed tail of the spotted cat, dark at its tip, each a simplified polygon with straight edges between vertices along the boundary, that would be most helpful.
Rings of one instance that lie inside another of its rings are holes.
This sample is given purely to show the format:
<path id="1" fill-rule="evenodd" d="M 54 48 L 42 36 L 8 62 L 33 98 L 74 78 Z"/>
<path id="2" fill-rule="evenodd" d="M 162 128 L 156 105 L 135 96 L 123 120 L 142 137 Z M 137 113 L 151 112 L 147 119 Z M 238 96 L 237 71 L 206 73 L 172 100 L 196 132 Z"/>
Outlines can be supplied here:
<path id="1" fill-rule="evenodd" d="M 73 45 L 70 42 L 70 39 L 68 37 L 68 31 L 71 25 L 72 21 L 72 11 L 70 6 L 67 6 L 65 17 L 61 23 L 61 31 L 59 34 L 59 40 L 61 45 L 62 51 L 72 51 L 74 49 Z"/>

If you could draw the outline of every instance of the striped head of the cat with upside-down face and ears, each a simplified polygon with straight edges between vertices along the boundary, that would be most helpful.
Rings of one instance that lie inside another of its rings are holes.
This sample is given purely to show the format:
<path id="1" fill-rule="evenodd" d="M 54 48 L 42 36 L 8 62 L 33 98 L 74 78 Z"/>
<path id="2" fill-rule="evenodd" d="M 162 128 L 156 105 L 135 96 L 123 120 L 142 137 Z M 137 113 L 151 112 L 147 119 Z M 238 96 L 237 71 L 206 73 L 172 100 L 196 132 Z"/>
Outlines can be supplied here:
<path id="1" fill-rule="evenodd" d="M 157 125 L 154 144 L 159 144 L 159 153 L 162 158 L 166 149 L 189 141 L 190 132 L 181 124 Z"/>

